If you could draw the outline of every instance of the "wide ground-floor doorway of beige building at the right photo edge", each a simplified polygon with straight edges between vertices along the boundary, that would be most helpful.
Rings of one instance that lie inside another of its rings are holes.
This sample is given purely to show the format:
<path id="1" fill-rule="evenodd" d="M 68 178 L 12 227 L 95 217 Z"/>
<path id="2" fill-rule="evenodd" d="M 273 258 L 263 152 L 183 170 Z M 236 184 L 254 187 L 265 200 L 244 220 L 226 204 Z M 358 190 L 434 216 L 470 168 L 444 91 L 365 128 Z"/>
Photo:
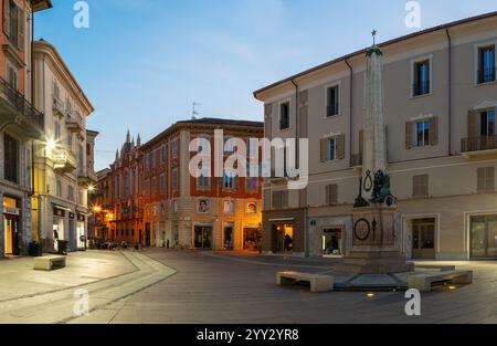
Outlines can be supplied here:
<path id="1" fill-rule="evenodd" d="M 497 259 L 497 216 L 470 218 L 470 259 Z"/>

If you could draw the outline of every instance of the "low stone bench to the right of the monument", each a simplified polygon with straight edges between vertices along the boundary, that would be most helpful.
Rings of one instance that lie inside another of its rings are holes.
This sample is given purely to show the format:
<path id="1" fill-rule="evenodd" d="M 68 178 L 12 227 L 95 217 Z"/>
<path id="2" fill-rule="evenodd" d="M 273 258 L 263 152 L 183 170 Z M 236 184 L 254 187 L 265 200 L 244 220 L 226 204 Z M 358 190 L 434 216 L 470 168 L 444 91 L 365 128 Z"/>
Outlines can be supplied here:
<path id="1" fill-rule="evenodd" d="M 433 286 L 446 283 L 470 284 L 473 283 L 473 271 L 446 271 L 408 277 L 409 289 L 416 289 L 420 292 L 430 292 Z"/>

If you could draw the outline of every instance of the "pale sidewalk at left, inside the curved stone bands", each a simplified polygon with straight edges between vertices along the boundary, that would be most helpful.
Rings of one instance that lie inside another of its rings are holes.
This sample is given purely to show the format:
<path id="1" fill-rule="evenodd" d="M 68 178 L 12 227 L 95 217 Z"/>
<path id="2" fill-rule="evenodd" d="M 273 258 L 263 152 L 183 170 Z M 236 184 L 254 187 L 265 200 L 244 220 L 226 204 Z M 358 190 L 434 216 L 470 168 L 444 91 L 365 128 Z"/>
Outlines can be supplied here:
<path id="1" fill-rule="evenodd" d="M 67 256 L 67 266 L 34 271 L 32 258 L 0 260 L 0 302 L 76 287 L 136 271 L 119 252 L 86 251 Z"/>

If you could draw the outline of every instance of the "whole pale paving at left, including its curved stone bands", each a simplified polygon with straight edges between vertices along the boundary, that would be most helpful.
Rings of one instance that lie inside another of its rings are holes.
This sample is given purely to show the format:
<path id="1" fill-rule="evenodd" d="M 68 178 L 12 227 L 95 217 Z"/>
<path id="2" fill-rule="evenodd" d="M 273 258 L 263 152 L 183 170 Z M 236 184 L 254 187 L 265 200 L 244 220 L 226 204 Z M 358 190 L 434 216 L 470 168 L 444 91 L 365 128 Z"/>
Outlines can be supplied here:
<path id="1" fill-rule="evenodd" d="M 108 323 L 126 298 L 176 273 L 175 270 L 135 251 L 73 254 L 68 258 L 66 269 L 54 272 L 33 271 L 34 274 L 30 274 L 27 266 L 29 263 L 29 259 L 22 259 L 0 264 L 0 268 L 20 268 L 17 274 L 9 274 L 11 286 L 20 290 L 15 294 L 11 293 L 11 298 L 0 301 L 0 323 L 72 322 L 76 318 L 74 308 L 80 306 L 81 298 L 76 294 L 76 285 L 87 294 L 87 307 L 84 307 L 84 311 L 94 312 L 92 321 L 97 318 L 99 323 Z M 15 275 L 23 277 L 18 280 Z M 4 281 L 2 277 L 2 282 Z M 35 287 L 32 287 L 33 285 Z M 84 322 L 86 318 L 76 319 Z"/>

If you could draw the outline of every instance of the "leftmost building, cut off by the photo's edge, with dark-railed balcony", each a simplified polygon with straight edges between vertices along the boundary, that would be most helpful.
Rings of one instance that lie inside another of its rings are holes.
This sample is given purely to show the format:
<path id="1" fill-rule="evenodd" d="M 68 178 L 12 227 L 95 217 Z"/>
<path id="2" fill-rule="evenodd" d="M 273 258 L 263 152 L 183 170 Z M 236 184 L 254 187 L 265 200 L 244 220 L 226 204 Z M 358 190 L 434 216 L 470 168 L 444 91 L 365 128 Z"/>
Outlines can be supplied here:
<path id="1" fill-rule="evenodd" d="M 0 258 L 25 254 L 31 242 L 33 141 L 44 117 L 32 102 L 31 23 L 49 0 L 4 0 L 0 8 Z"/>

